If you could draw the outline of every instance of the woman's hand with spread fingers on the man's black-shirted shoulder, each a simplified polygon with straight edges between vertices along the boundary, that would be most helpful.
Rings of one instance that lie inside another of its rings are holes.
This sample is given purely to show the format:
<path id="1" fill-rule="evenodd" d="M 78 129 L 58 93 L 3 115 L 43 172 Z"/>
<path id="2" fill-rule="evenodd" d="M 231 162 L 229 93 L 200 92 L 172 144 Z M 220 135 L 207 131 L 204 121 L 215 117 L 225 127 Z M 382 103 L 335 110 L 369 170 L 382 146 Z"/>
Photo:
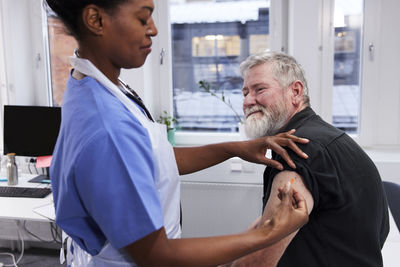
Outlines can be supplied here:
<path id="1" fill-rule="evenodd" d="M 297 155 L 306 159 L 308 158 L 307 154 L 301 151 L 296 143 L 306 144 L 309 142 L 308 139 L 293 135 L 295 131 L 296 130 L 293 129 L 274 136 L 266 136 L 250 141 L 239 142 L 237 156 L 249 162 L 265 164 L 267 166 L 282 170 L 283 166 L 281 163 L 265 156 L 267 150 L 271 149 L 275 151 L 275 153 L 279 154 L 291 168 L 295 169 L 296 165 L 291 160 L 289 154 L 283 148 L 283 146 L 289 147 Z"/>

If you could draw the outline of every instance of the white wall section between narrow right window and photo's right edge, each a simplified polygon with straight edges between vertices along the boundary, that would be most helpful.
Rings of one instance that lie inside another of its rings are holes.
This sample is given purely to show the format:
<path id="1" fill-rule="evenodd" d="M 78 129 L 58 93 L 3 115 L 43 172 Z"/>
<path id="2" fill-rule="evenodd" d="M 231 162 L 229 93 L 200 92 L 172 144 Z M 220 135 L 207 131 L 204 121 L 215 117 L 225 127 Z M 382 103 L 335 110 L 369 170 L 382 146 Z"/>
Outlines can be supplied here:
<path id="1" fill-rule="evenodd" d="M 396 0 L 365 0 L 361 142 L 366 147 L 400 148 L 400 29 Z M 368 51 L 374 45 L 374 56 Z M 365 90 L 364 90 L 365 89 Z M 400 156 L 398 156 L 400 158 Z"/>

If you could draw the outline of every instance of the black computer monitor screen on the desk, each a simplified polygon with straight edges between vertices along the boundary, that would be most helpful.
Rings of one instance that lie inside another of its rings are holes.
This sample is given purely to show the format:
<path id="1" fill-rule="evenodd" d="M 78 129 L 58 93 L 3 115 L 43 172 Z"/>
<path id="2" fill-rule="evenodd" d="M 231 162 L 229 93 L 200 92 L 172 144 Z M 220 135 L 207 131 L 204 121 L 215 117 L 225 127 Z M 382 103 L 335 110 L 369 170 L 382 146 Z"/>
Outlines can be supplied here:
<path id="1" fill-rule="evenodd" d="M 61 124 L 60 107 L 4 106 L 4 154 L 53 154 Z"/>

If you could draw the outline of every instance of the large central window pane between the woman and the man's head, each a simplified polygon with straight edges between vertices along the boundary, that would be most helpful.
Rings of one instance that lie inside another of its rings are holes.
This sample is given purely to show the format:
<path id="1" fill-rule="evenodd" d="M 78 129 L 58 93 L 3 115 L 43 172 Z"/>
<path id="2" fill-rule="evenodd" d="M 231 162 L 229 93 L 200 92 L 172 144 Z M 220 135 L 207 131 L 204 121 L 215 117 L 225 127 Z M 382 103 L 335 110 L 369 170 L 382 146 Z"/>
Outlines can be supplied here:
<path id="1" fill-rule="evenodd" d="M 236 132 L 243 117 L 239 64 L 269 48 L 269 1 L 171 0 L 169 9 L 180 131 Z"/>

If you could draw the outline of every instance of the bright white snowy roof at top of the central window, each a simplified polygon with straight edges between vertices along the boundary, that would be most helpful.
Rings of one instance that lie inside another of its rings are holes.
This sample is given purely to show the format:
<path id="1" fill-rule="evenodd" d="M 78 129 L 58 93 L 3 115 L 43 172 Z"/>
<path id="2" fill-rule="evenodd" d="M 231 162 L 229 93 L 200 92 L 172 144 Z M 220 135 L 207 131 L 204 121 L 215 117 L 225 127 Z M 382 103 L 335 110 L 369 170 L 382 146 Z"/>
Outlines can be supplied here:
<path id="1" fill-rule="evenodd" d="M 171 5 L 171 23 L 212 23 L 258 20 L 260 8 L 269 1 L 193 2 Z"/>

